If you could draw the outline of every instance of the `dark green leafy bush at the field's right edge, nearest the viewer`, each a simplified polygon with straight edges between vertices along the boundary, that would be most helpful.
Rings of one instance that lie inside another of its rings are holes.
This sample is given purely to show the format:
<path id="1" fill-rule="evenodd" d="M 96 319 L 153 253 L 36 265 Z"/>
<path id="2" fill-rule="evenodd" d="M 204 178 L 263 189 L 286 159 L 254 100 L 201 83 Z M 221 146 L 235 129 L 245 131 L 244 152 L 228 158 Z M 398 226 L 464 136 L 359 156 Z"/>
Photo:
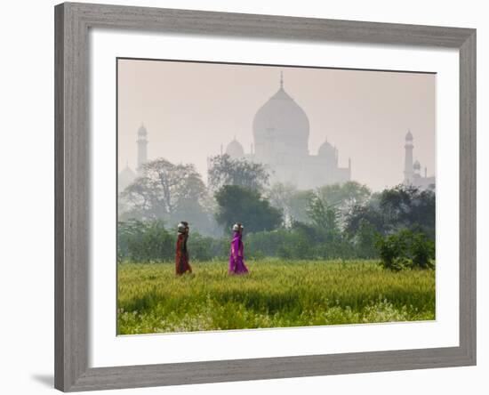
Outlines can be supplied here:
<path id="1" fill-rule="evenodd" d="M 378 237 L 375 246 L 381 255 L 381 266 L 385 269 L 434 268 L 435 243 L 424 233 L 400 230 L 385 238 Z"/>

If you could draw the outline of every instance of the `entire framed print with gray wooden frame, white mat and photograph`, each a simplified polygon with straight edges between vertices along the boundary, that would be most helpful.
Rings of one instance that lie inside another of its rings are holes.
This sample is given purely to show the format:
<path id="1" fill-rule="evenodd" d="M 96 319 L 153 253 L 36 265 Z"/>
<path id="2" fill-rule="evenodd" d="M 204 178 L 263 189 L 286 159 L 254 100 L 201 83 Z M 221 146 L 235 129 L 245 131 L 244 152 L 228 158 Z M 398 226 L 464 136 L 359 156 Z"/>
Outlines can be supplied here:
<path id="1" fill-rule="evenodd" d="M 55 386 L 476 363 L 476 31 L 55 7 Z"/>

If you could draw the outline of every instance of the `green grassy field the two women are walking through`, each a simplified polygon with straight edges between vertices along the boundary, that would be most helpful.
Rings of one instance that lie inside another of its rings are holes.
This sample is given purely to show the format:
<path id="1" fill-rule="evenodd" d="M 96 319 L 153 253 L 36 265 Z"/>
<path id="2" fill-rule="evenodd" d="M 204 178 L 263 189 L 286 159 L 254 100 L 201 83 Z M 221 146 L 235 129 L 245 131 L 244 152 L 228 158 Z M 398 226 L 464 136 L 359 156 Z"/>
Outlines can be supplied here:
<path id="1" fill-rule="evenodd" d="M 119 263 L 119 335 L 435 319 L 435 271 L 382 270 L 373 261 Z"/>

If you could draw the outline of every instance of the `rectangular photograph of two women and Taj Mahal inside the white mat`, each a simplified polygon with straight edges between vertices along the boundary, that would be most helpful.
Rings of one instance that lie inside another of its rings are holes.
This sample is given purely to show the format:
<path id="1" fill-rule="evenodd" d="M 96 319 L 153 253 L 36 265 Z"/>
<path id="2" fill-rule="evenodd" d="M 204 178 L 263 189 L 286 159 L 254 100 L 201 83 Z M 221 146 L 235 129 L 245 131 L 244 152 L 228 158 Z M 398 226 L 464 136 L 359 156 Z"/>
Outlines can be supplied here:
<path id="1" fill-rule="evenodd" d="M 117 58 L 116 335 L 436 320 L 436 98 L 424 70 Z"/>

